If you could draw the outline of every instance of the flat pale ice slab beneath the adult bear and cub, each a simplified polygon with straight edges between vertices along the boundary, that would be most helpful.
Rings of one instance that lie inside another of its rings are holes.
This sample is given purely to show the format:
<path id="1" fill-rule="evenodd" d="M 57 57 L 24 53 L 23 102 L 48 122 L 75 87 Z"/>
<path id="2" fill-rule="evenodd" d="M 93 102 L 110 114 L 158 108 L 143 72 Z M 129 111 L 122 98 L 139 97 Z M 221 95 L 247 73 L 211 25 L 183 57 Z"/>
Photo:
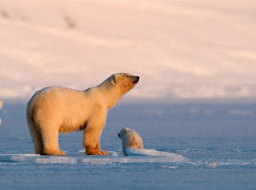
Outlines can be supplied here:
<path id="1" fill-rule="evenodd" d="M 110 156 L 57 157 L 41 156 L 39 154 L 0 154 L 0 162 L 30 163 L 30 164 L 112 164 L 112 163 L 174 163 L 189 161 L 182 155 L 166 153 L 157 150 L 127 150 L 133 157 L 118 156 L 111 151 Z M 147 156 L 145 156 L 147 155 Z"/>

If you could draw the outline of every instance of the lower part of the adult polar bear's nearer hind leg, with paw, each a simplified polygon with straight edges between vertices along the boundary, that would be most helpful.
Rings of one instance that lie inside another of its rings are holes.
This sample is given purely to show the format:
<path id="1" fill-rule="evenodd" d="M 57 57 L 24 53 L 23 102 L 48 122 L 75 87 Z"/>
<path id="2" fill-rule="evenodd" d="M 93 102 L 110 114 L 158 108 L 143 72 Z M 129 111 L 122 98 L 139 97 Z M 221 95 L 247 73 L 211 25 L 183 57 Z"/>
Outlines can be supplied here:
<path id="1" fill-rule="evenodd" d="M 46 129 L 46 128 L 43 128 Z M 54 129 L 54 127 L 53 127 Z M 58 130 L 42 130 L 43 154 L 44 155 L 65 155 L 65 152 L 59 147 Z"/>

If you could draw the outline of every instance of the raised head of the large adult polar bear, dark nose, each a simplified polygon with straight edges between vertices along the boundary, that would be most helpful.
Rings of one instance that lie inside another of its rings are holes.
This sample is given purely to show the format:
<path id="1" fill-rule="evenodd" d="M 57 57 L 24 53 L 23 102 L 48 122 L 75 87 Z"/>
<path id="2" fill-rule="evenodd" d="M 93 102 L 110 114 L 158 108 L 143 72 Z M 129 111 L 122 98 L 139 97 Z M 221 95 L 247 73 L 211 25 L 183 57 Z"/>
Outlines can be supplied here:
<path id="1" fill-rule="evenodd" d="M 112 74 L 110 78 L 112 84 L 118 87 L 123 94 L 130 91 L 140 80 L 139 76 L 128 73 Z"/>

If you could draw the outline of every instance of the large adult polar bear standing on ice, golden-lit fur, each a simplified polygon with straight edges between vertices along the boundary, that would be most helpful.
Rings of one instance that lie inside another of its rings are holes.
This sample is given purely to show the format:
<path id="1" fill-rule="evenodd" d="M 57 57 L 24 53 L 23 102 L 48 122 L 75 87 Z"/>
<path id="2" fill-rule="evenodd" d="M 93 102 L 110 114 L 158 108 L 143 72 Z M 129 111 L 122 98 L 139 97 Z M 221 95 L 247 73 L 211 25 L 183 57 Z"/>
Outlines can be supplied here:
<path id="1" fill-rule="evenodd" d="M 36 92 L 26 111 L 36 154 L 64 155 L 59 148 L 59 133 L 78 130 L 84 130 L 86 154 L 109 154 L 100 149 L 108 110 L 137 85 L 139 79 L 138 76 L 119 73 L 85 91 L 48 87 Z"/>

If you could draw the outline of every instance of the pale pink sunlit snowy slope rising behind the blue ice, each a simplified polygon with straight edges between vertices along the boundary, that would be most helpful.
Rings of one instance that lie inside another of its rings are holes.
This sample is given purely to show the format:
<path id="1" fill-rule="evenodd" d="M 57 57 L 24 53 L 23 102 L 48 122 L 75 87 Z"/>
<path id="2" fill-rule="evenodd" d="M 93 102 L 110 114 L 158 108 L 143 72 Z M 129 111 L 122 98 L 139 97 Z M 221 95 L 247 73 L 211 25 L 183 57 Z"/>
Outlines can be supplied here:
<path id="1" fill-rule="evenodd" d="M 1 1 L 0 99 L 140 76 L 138 99 L 256 98 L 254 1 Z"/>

